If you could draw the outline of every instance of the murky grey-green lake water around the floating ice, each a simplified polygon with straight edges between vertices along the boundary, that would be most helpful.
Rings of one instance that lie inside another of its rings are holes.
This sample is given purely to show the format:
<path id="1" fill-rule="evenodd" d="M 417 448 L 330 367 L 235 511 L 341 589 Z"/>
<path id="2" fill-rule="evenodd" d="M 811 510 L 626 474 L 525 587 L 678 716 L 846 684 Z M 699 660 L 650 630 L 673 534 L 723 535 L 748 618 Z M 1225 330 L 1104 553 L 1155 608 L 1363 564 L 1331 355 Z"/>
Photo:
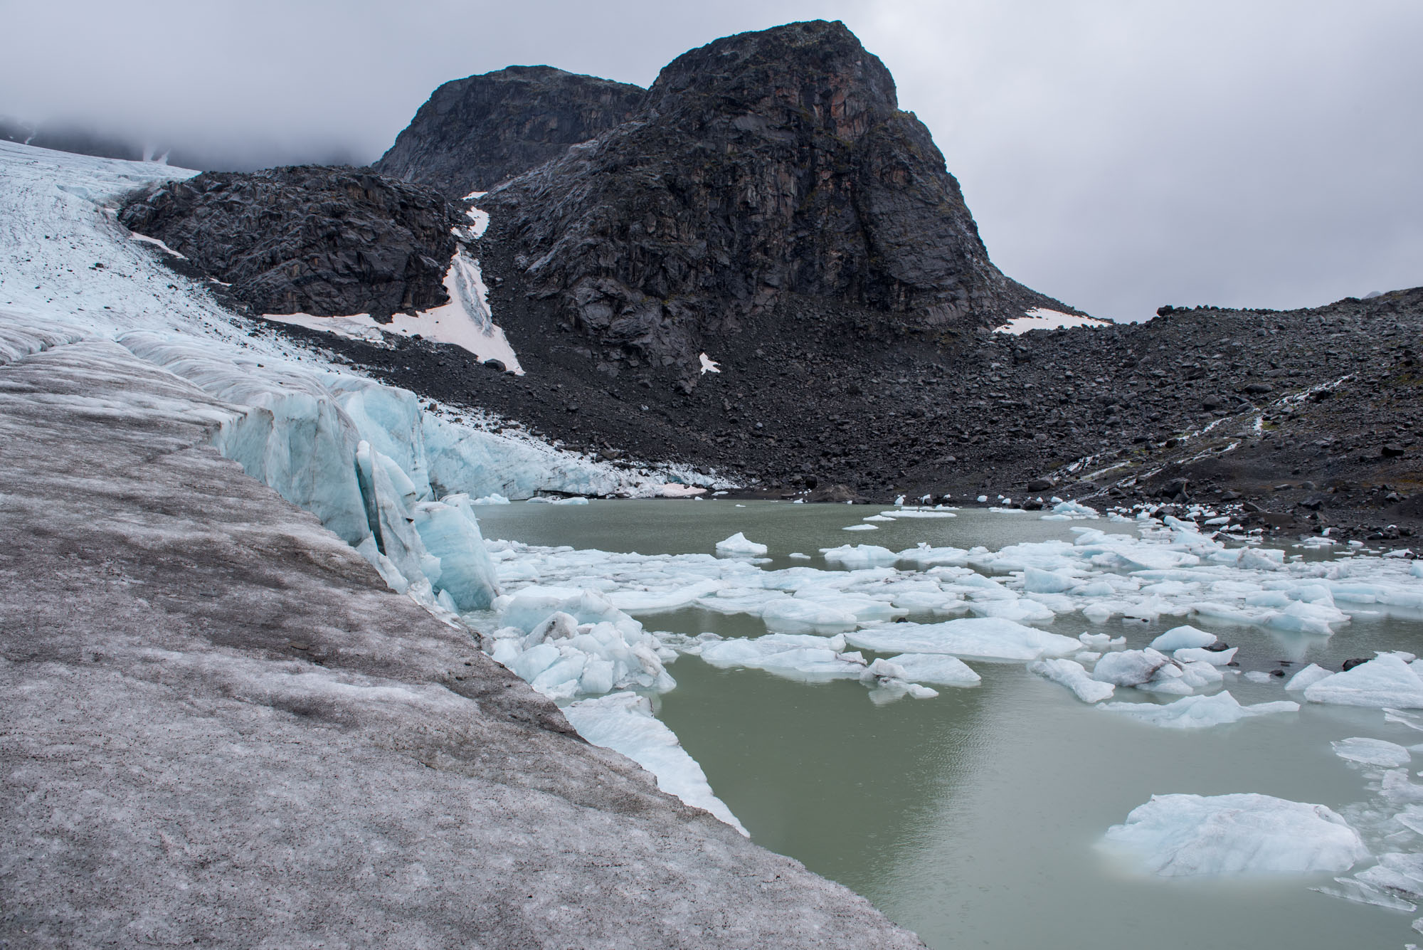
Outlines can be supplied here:
<path id="1" fill-rule="evenodd" d="M 595 501 L 586 506 L 514 503 L 480 508 L 485 538 L 609 552 L 712 553 L 744 532 L 770 545 L 767 569 L 828 565 L 820 548 L 918 542 L 998 550 L 1074 538 L 1073 528 L 1136 535 L 1106 518 L 1043 521 L 1036 513 L 961 509 L 956 518 L 878 523 L 845 532 L 878 508 L 731 501 Z M 1291 548 L 1298 538 L 1265 546 Z M 791 560 L 790 552 L 811 555 Z M 1423 585 L 1423 582 L 1419 582 Z M 682 609 L 635 614 L 647 630 L 754 637 L 746 614 Z M 1033 624 L 1077 636 L 1126 636 L 1147 646 L 1191 623 L 1238 646 L 1239 670 L 1331 668 L 1375 650 L 1423 653 L 1423 620 L 1355 616 L 1333 637 L 1272 633 L 1201 617 L 1081 613 Z M 867 656 L 869 656 L 867 653 Z M 1376 708 L 1303 703 L 1282 680 L 1227 674 L 1242 704 L 1295 700 L 1298 712 L 1202 730 L 1167 730 L 1106 712 L 1023 663 L 969 660 L 976 687 L 935 687 L 935 698 L 877 704 L 855 681 L 797 683 L 758 670 L 714 668 L 693 656 L 669 666 L 677 687 L 657 715 L 696 758 L 716 795 L 757 843 L 801 860 L 868 897 L 931 947 L 1403 947 L 1423 940 L 1419 913 L 1363 906 L 1311 890 L 1331 875 L 1167 879 L 1144 875 L 1097 845 L 1109 826 L 1153 794 L 1261 792 L 1322 804 L 1353 822 L 1377 806 L 1377 769 L 1336 757 L 1348 737 L 1402 745 L 1423 734 L 1386 722 Z M 1117 700 L 1165 703 L 1177 697 Z M 1414 757 L 1423 765 L 1423 757 Z M 1370 789 L 1370 782 L 1373 788 Z M 1402 806 L 1399 806 L 1402 808 Z M 1395 811 L 1397 811 L 1396 808 Z M 1406 836 L 1407 833 L 1405 833 Z M 1420 850 L 1417 838 L 1396 850 Z M 1377 850 L 1377 849 L 1375 849 Z M 1363 862 L 1366 865 L 1369 862 Z M 1360 866 L 1363 866 L 1360 865 Z"/>

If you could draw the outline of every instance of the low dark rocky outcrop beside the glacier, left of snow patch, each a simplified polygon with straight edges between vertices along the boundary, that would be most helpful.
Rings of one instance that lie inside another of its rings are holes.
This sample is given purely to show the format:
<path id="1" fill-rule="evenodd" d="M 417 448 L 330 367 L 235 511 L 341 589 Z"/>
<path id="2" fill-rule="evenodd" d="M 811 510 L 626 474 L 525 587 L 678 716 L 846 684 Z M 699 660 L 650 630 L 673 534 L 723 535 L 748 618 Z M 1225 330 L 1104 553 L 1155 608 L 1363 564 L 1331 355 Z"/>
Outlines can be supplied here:
<path id="1" fill-rule="evenodd" d="M 428 188 L 364 169 L 206 172 L 120 212 L 256 313 L 388 320 L 448 301 L 457 210 Z"/>

